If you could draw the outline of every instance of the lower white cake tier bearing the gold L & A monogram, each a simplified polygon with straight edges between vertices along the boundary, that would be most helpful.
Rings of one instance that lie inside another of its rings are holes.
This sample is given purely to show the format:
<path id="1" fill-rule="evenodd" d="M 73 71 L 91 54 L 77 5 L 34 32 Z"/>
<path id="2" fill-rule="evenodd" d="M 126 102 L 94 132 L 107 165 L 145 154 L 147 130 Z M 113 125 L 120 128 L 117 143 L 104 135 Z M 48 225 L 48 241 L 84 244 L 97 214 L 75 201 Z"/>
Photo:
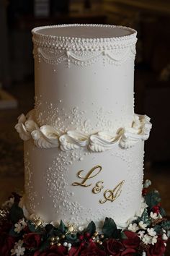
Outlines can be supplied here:
<path id="1" fill-rule="evenodd" d="M 100 226 L 109 216 L 123 226 L 140 209 L 143 145 L 91 153 L 86 148 L 46 150 L 27 140 L 25 208 L 47 222 L 86 225 L 93 220 Z"/>

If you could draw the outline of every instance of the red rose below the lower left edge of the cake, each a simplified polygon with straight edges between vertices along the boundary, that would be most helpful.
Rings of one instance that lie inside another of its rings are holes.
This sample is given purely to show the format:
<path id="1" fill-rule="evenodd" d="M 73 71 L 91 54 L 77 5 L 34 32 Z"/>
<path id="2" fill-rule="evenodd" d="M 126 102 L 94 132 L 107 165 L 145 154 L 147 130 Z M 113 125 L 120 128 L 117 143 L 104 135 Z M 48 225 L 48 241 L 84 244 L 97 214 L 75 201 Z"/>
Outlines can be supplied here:
<path id="1" fill-rule="evenodd" d="M 24 235 L 24 247 L 28 249 L 37 248 L 41 243 L 41 236 L 37 233 Z"/>

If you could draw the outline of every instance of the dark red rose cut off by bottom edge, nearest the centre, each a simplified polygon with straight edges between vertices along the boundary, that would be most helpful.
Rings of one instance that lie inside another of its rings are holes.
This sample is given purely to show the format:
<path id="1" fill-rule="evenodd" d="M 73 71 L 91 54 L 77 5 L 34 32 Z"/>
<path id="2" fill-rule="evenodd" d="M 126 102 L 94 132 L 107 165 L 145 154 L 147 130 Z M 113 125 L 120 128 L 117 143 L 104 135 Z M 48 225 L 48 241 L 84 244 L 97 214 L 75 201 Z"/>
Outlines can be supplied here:
<path id="1" fill-rule="evenodd" d="M 97 244 L 91 242 L 86 249 L 83 249 L 80 256 L 106 256 L 106 252 L 103 249 L 99 249 Z"/>

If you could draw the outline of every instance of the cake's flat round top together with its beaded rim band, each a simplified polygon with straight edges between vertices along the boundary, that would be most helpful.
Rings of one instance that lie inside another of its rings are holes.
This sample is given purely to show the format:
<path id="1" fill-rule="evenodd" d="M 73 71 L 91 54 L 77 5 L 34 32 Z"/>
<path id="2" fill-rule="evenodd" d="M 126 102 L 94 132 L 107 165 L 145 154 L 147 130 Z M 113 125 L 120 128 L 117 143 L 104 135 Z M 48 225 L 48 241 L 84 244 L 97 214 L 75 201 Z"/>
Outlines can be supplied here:
<path id="1" fill-rule="evenodd" d="M 136 31 L 115 25 L 55 25 L 32 30 L 35 45 L 74 51 L 127 48 L 136 43 Z"/>

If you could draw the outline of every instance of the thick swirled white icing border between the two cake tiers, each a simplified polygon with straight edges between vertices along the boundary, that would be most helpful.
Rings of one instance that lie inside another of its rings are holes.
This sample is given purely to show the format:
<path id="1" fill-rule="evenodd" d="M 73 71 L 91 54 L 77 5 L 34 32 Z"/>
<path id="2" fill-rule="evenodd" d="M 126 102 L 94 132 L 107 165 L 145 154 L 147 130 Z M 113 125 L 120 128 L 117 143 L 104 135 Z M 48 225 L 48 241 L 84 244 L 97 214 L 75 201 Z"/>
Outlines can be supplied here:
<path id="1" fill-rule="evenodd" d="M 34 110 L 27 116 L 21 114 L 15 125 L 19 137 L 24 141 L 32 139 L 37 148 L 60 148 L 68 151 L 86 147 L 93 152 L 111 150 L 115 145 L 125 149 L 131 148 L 137 142 L 148 139 L 151 127 L 148 116 L 134 114 L 132 126 L 117 129 L 115 134 L 102 131 L 85 135 L 74 130 L 60 135 L 57 129 L 50 125 L 45 124 L 39 127 L 34 121 Z"/>

